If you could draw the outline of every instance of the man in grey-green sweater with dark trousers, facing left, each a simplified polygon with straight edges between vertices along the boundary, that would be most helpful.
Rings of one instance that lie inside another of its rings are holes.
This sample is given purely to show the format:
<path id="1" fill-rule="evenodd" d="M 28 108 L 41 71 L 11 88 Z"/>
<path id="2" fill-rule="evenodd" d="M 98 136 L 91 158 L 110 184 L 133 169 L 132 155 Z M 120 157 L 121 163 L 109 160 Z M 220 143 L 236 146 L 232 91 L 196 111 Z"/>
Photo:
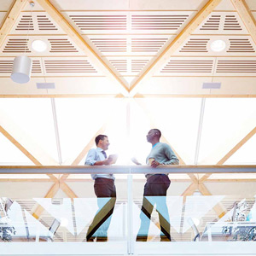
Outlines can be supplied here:
<path id="1" fill-rule="evenodd" d="M 156 168 L 160 165 L 178 165 L 179 160 L 172 148 L 166 143 L 160 143 L 161 132 L 158 129 L 148 131 L 147 141 L 152 144 L 152 149 L 147 157 L 147 164 L 152 159 L 150 166 Z M 139 165 L 137 160 L 134 162 Z M 166 174 L 147 173 L 147 182 L 144 186 L 143 207 L 140 214 L 141 226 L 137 234 L 137 241 L 147 241 L 151 213 L 154 204 L 160 219 L 160 241 L 171 241 L 170 218 L 166 206 L 166 192 L 170 186 L 170 179 Z"/>

